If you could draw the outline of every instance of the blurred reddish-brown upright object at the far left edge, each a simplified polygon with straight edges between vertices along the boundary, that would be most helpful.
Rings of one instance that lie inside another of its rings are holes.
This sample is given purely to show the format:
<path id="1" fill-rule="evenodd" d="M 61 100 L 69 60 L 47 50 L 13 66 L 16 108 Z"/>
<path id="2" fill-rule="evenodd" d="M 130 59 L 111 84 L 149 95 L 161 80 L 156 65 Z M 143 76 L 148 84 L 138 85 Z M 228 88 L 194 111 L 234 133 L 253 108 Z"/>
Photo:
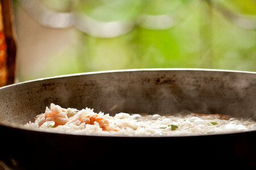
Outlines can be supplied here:
<path id="1" fill-rule="evenodd" d="M 16 44 L 10 0 L 0 0 L 0 87 L 14 83 Z"/>

